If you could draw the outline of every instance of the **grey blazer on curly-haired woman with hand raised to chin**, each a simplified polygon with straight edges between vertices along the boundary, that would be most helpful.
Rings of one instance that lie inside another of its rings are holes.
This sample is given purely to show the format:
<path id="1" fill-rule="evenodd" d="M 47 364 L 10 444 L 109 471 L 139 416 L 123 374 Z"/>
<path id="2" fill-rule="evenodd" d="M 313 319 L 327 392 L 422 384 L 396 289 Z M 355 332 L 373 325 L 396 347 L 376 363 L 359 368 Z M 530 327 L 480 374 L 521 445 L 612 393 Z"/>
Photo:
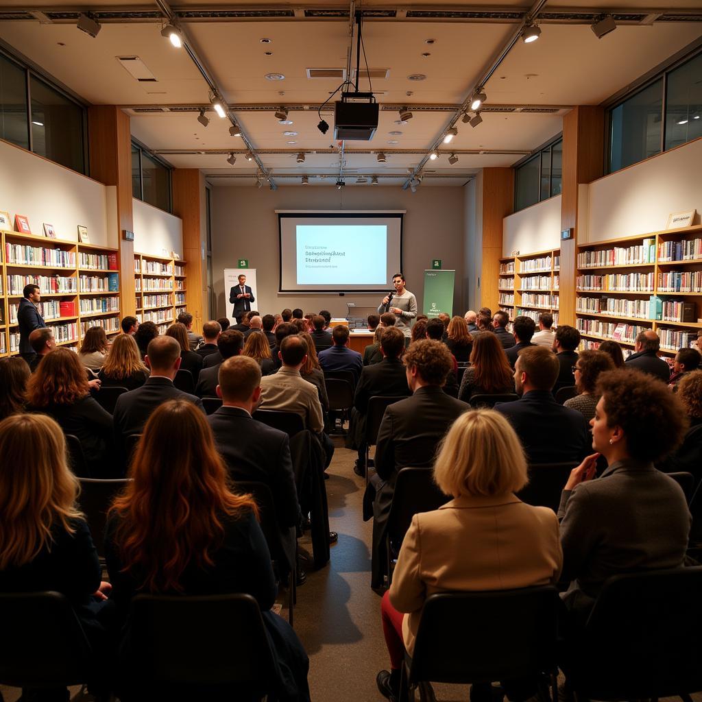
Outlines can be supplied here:
<path id="1" fill-rule="evenodd" d="M 558 509 L 566 606 L 586 612 L 618 573 L 682 566 L 691 516 L 680 485 L 652 463 L 618 461 L 564 490 Z"/>

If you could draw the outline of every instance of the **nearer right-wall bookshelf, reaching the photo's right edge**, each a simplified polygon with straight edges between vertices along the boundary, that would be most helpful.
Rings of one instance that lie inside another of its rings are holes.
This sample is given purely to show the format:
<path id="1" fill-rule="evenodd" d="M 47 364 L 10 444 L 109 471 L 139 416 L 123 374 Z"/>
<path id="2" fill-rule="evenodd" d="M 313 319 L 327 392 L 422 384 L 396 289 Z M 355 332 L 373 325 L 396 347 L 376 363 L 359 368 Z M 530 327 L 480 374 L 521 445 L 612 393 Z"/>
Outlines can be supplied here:
<path id="1" fill-rule="evenodd" d="M 696 338 L 702 329 L 702 226 L 597 241 L 577 251 L 576 326 L 584 347 L 613 339 L 631 352 L 637 334 L 653 329 L 661 353 L 672 357 Z M 661 310 L 651 310 L 652 296 L 660 298 Z"/>

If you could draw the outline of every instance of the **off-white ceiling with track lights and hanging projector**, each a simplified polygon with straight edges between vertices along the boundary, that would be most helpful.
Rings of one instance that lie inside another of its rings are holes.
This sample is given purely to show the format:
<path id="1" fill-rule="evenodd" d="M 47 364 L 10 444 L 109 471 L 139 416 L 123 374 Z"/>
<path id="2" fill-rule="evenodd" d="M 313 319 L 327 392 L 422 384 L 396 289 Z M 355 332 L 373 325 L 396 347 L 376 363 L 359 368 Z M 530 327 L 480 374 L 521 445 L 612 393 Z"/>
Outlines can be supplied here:
<path id="1" fill-rule="evenodd" d="M 211 2 L 188 1 L 176 10 L 202 7 L 216 8 Z M 274 3 L 258 0 L 257 6 Z M 633 0 L 559 0 L 562 8 L 595 9 L 640 8 Z M 20 0 L 4 0 L 4 8 L 24 8 Z M 135 8 L 124 0 L 94 0 L 97 8 Z M 279 6 L 275 4 L 275 6 Z M 368 2 L 364 8 L 387 7 Z M 404 6 L 412 7 L 406 3 Z M 416 4 L 414 5 L 416 6 Z M 421 6 L 443 7 L 438 2 L 423 1 Z M 236 8 L 227 4 L 223 8 Z M 251 6 L 241 5 L 249 8 Z M 336 7 L 338 2 L 312 0 L 305 7 Z M 348 6 L 345 5 L 347 8 Z M 461 8 L 480 8 L 477 3 Z M 497 6 L 496 6 L 497 7 Z M 517 0 L 501 2 L 500 8 L 528 6 Z M 700 0 L 658 2 L 661 8 L 699 9 Z M 51 8 L 51 3 L 34 3 L 32 8 Z M 154 10 L 155 5 L 141 6 Z M 552 11 L 554 8 L 545 6 Z M 651 12 L 653 12 L 651 10 Z M 308 79 L 306 69 L 345 66 L 349 33 L 347 21 L 208 21 L 184 22 L 195 51 L 206 62 L 213 78 L 232 106 L 232 113 L 249 143 L 262 150 L 260 161 L 273 176 L 328 174 L 330 178 L 313 178 L 312 183 L 333 183 L 339 173 L 340 145 L 333 140 L 333 111 L 323 116 L 332 128 L 326 135 L 317 130 L 317 110 L 303 109 L 319 105 L 338 86 L 336 79 Z M 407 170 L 417 166 L 424 154 L 453 117 L 453 108 L 468 97 L 479 77 L 489 67 L 494 55 L 515 32 L 517 25 L 505 22 L 458 22 L 455 20 L 396 20 L 364 23 L 366 58 L 371 69 L 388 69 L 388 79 L 373 81 L 373 91 L 381 105 L 378 131 L 371 142 L 344 145 L 344 173 L 353 183 L 357 174 L 381 176 L 383 184 L 402 184 Z M 73 22 L 41 24 L 36 20 L 1 19 L 0 39 L 15 47 L 30 60 L 44 67 L 74 93 L 92 104 L 124 105 L 206 105 L 208 86 L 185 50 L 177 50 L 160 35 L 158 22 L 104 22 L 98 37 L 79 32 Z M 426 178 L 435 185 L 463 184 L 479 168 L 510 166 L 562 129 L 562 115 L 571 105 L 597 105 L 631 84 L 670 55 L 680 51 L 702 34 L 702 22 L 656 22 L 650 26 L 621 25 L 598 40 L 588 23 L 543 22 L 541 39 L 525 45 L 519 41 L 485 86 L 491 105 L 555 106 L 550 114 L 525 112 L 484 112 L 477 128 L 458 121 L 458 136 L 450 147 L 442 147 L 436 161 L 428 161 L 425 173 L 432 171 L 446 178 Z M 270 44 L 260 39 L 270 39 Z M 427 44 L 427 39 L 434 39 Z M 272 55 L 267 56 L 269 51 Z M 423 56 L 423 53 L 430 53 Z M 140 83 L 131 77 L 116 57 L 137 55 L 157 78 L 154 83 Z M 354 51 L 355 56 L 355 51 Z M 282 81 L 265 79 L 270 72 L 282 73 Z M 410 81 L 410 74 L 426 75 L 424 81 Z M 366 90 L 362 79 L 360 90 Z M 383 103 L 426 107 L 441 105 L 442 110 L 420 111 L 406 124 L 396 124 L 396 111 L 383 110 Z M 253 109 L 256 105 L 256 109 Z M 274 107 L 296 105 L 291 109 L 290 126 L 278 124 Z M 237 110 L 237 107 L 239 108 Z M 330 106 L 331 108 L 331 103 Z M 256 175 L 256 161 L 246 161 L 246 145 L 229 134 L 229 121 L 208 112 L 205 128 L 196 112 L 150 112 L 131 109 L 131 128 L 138 138 L 178 168 L 201 168 L 207 174 L 240 175 L 246 178 L 216 178 L 212 182 L 251 185 Z M 284 131 L 296 131 L 286 136 Z M 390 135 L 391 131 L 402 132 Z M 397 144 L 390 144 L 397 141 Z M 289 144 L 289 142 L 295 142 Z M 220 152 L 212 154 L 209 150 Z M 227 152 L 237 154 L 235 166 L 225 163 Z M 269 153 L 270 151 L 274 153 Z M 413 153 L 397 153 L 411 151 Z M 458 163 L 451 166 L 447 156 L 456 150 Z M 198 153 L 203 151 L 204 153 Z M 306 154 L 303 164 L 296 163 L 296 152 Z M 386 162 L 377 161 L 376 152 L 386 154 Z M 486 151 L 488 153 L 465 153 Z M 363 153 L 355 153 L 363 152 Z M 393 153 L 395 152 L 395 153 Z M 462 153 L 463 152 L 463 153 Z M 497 153 L 495 153 L 497 152 Z M 505 153 L 511 152 L 511 153 Z M 395 178 L 383 178 L 395 176 Z M 299 183 L 297 178 L 279 178 L 279 185 Z"/>

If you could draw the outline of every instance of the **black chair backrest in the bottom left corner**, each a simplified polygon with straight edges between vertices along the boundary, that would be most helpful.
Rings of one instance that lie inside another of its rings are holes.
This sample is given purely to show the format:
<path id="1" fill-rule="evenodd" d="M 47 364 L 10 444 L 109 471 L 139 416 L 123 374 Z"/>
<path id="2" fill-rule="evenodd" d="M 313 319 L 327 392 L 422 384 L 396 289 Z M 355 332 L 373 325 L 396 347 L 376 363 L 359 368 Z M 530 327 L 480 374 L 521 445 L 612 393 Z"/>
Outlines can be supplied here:
<path id="1" fill-rule="evenodd" d="M 0 683 L 65 687 L 86 681 L 92 651 L 64 595 L 0 593 Z"/>

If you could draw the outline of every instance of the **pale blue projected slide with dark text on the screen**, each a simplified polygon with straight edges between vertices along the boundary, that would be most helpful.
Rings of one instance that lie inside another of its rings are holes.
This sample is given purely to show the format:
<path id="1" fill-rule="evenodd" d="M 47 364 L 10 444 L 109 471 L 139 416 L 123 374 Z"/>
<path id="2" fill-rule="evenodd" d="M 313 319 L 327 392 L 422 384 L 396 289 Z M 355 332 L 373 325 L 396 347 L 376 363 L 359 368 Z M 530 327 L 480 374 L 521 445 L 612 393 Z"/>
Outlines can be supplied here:
<path id="1" fill-rule="evenodd" d="M 297 282 L 383 286 L 387 278 L 387 243 L 386 225 L 297 225 Z M 331 256 L 329 263 L 306 263 L 305 258 L 329 256 L 325 256 L 325 249 L 307 251 L 305 246 L 324 246 L 327 252 L 345 252 L 345 256 Z"/>

